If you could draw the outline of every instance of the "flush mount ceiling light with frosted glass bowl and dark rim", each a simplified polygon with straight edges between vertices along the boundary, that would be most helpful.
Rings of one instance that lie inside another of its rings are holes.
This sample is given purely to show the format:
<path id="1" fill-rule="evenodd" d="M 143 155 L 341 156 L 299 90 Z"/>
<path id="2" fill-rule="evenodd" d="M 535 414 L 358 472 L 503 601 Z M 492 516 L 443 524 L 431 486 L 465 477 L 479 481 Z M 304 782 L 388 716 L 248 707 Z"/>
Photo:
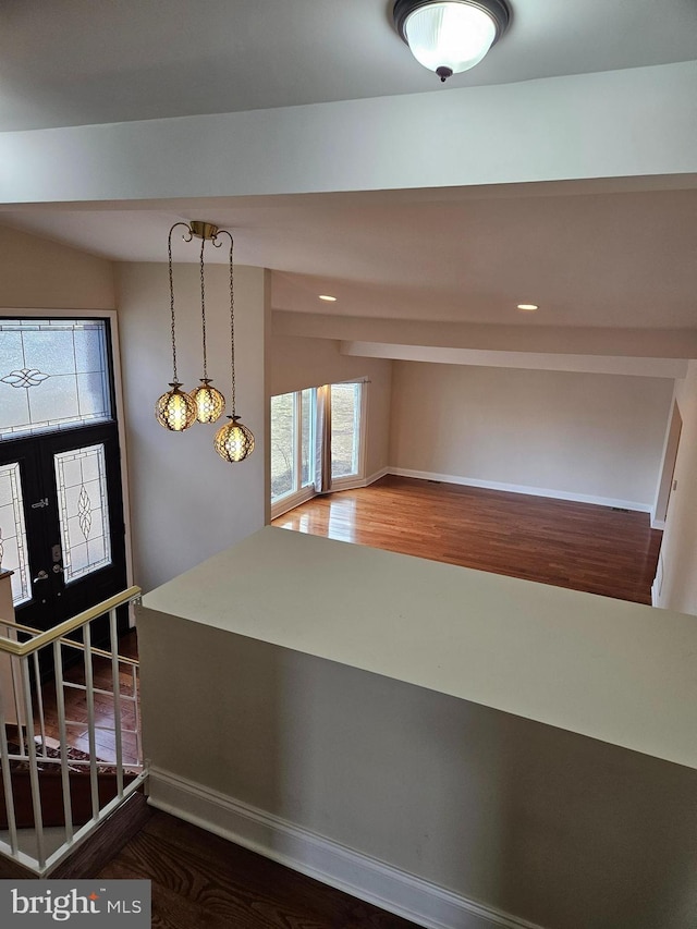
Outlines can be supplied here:
<path id="1" fill-rule="evenodd" d="M 511 20 L 504 0 L 396 0 L 392 15 L 414 58 L 441 82 L 478 64 Z"/>

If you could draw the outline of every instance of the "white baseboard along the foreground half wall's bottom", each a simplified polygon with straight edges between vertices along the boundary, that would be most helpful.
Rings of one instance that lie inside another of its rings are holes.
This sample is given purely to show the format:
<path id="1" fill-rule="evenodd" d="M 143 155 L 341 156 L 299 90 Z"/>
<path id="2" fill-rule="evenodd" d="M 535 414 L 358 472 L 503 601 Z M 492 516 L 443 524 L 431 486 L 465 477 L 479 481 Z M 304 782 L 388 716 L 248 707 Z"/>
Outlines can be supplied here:
<path id="1" fill-rule="evenodd" d="M 157 767 L 149 773 L 158 809 L 427 929 L 541 929 L 210 787 Z"/>

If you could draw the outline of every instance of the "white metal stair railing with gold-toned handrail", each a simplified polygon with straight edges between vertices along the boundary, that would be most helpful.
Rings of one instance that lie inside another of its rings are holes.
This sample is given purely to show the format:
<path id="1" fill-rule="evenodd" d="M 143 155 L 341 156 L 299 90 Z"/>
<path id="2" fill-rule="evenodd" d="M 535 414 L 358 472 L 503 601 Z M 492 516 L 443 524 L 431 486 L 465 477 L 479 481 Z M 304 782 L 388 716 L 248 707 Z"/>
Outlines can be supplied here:
<path id="1" fill-rule="evenodd" d="M 139 587 L 130 587 L 47 632 L 0 620 L 0 662 L 10 672 L 0 687 L 0 806 L 3 798 L 5 816 L 0 854 L 36 875 L 48 875 L 147 777 L 139 667 L 137 659 L 119 655 L 117 615 L 139 596 Z M 96 668 L 100 686 L 95 684 Z M 71 690 L 73 697 L 66 700 Z M 75 718 L 69 716 L 71 708 Z M 13 728 L 16 738 L 8 735 Z M 75 743 L 82 751 L 75 750 Z M 89 797 L 81 817 L 74 810 L 72 774 L 86 771 Z M 60 789 L 56 774 L 52 785 L 47 783 L 51 779 L 46 772 L 60 772 Z M 17 784 L 27 780 L 29 796 L 20 796 Z M 59 824 L 56 810 L 49 815 L 48 809 L 56 793 L 62 806 Z"/>

